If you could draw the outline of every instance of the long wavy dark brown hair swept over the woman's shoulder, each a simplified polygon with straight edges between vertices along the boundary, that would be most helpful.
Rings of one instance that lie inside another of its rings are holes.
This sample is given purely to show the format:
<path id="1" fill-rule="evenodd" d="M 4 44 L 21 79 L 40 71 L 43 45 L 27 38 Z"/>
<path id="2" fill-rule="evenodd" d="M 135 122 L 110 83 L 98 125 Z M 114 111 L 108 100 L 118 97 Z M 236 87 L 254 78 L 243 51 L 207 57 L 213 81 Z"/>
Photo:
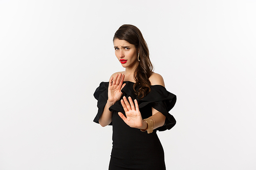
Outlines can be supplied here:
<path id="1" fill-rule="evenodd" d="M 138 66 L 134 72 L 134 79 L 136 83 L 133 85 L 133 89 L 138 98 L 142 99 L 151 91 L 150 88 L 150 76 L 153 72 L 153 65 L 150 61 L 150 53 L 146 41 L 144 40 L 140 30 L 133 25 L 122 25 L 115 33 L 113 41 L 115 39 L 125 40 L 130 44 L 134 44 L 139 51 Z M 135 89 L 139 85 L 138 91 Z"/>

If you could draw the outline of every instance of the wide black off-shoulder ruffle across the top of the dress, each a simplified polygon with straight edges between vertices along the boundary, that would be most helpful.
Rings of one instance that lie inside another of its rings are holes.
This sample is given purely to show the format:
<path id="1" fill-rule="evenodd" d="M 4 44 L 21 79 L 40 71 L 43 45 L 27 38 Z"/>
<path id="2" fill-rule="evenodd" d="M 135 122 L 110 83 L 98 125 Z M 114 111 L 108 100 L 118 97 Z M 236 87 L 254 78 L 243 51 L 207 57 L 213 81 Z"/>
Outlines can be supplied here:
<path id="1" fill-rule="evenodd" d="M 152 85 L 150 86 L 151 92 L 148 93 L 144 98 L 139 99 L 137 94 L 135 94 L 133 90 L 134 83 L 129 81 L 126 81 L 124 83 L 126 83 L 126 85 L 121 90 L 123 95 L 126 97 L 131 96 L 133 100 L 136 99 L 138 101 L 140 109 L 150 105 L 151 107 L 155 108 L 163 115 L 165 115 L 165 124 L 162 127 L 157 128 L 156 130 L 169 130 L 175 126 L 176 120 L 173 115 L 169 114 L 170 109 L 172 109 L 176 103 L 177 98 L 175 94 L 168 92 L 166 88 L 161 85 Z M 99 117 L 104 110 L 106 101 L 108 100 L 108 87 L 109 82 L 101 82 L 99 87 L 94 92 L 94 97 L 98 100 L 98 113 L 93 120 L 96 123 L 99 123 Z M 116 102 L 113 106 L 109 108 L 109 110 L 118 112 L 120 111 L 124 113 L 123 107 L 120 102 Z M 112 123 L 110 125 L 112 125 Z"/>

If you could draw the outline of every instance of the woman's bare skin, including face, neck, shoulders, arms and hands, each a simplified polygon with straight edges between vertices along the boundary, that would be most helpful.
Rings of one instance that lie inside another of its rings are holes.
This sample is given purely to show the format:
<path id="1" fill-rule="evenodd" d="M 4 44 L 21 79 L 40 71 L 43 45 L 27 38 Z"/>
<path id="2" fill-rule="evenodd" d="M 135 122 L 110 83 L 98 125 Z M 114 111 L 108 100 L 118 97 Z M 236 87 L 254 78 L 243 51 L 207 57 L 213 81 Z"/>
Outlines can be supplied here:
<path id="1" fill-rule="evenodd" d="M 114 48 L 115 55 L 118 61 L 120 62 L 120 59 L 124 59 L 127 61 L 126 63 L 122 64 L 125 70 L 121 72 L 116 72 L 111 76 L 109 80 L 109 99 L 106 102 L 101 117 L 99 118 L 99 124 L 102 127 L 107 126 L 112 122 L 112 112 L 109 111 L 109 108 L 120 100 L 122 96 L 121 89 L 125 86 L 125 83 L 123 84 L 123 81 L 135 82 L 133 75 L 134 70 L 139 62 L 137 59 L 139 51 L 136 49 L 135 45 L 130 44 L 125 40 L 115 39 Z M 151 85 L 161 85 L 165 87 L 163 78 L 159 74 L 153 73 L 149 80 L 151 82 Z M 121 112 L 118 112 L 118 115 L 127 125 L 129 125 L 131 128 L 147 129 L 147 124 L 141 117 L 138 102 L 136 99 L 133 101 L 130 96 L 128 98 L 123 96 L 123 99 L 121 99 L 121 104 L 125 111 L 126 117 Z M 164 125 L 165 116 L 154 108 L 152 108 L 152 116 L 150 118 L 153 118 L 155 120 L 154 129 Z"/>

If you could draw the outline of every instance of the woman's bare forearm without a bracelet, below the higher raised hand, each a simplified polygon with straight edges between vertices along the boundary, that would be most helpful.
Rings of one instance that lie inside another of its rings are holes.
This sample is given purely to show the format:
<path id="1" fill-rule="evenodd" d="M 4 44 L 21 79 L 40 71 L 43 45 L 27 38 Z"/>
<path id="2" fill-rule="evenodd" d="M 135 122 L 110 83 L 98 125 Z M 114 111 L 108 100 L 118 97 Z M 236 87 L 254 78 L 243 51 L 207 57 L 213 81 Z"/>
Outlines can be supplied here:
<path id="1" fill-rule="evenodd" d="M 114 104 L 114 102 L 109 102 L 109 100 L 106 102 L 104 110 L 99 118 L 99 124 L 102 127 L 105 127 L 112 122 L 112 112 L 109 110 L 109 108 Z"/>

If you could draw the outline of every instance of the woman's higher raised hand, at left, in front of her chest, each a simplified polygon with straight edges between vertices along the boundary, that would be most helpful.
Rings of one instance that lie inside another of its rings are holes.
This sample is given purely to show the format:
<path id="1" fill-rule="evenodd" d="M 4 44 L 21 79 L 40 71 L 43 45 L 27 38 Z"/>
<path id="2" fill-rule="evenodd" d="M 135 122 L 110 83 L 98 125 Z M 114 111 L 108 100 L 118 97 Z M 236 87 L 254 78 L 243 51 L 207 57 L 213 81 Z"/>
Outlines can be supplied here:
<path id="1" fill-rule="evenodd" d="M 117 74 L 115 78 L 111 77 L 109 81 L 109 90 L 108 90 L 108 101 L 111 103 L 116 103 L 120 100 L 122 96 L 121 89 L 125 86 L 125 83 L 123 84 L 124 75 Z"/>

